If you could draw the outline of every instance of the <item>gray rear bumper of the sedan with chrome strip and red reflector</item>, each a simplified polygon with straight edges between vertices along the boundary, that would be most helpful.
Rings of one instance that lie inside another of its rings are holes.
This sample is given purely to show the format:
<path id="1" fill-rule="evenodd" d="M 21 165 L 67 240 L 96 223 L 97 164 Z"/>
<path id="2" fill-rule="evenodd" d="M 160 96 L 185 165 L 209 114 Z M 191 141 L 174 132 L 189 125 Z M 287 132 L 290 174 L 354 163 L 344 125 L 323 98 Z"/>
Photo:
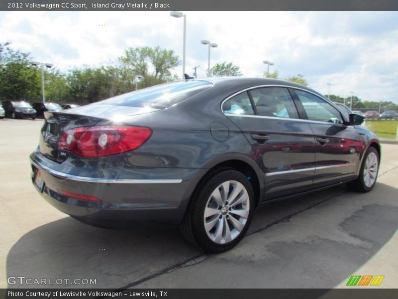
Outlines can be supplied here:
<path id="1" fill-rule="evenodd" d="M 40 189 L 34 186 L 47 202 L 68 215 L 105 225 L 126 221 L 181 223 L 192 186 L 196 185 L 194 177 L 203 170 L 135 167 L 139 178 L 127 179 L 122 171 L 116 177 L 101 178 L 60 171 L 57 167 L 61 164 L 44 157 L 38 150 L 30 155 L 30 160 L 32 182 L 34 184 L 36 171 L 40 171 L 44 185 Z M 124 168 L 131 174 L 129 167 Z M 154 175 L 156 172 L 164 173 L 164 177 Z M 82 200 L 73 194 L 99 201 Z"/>

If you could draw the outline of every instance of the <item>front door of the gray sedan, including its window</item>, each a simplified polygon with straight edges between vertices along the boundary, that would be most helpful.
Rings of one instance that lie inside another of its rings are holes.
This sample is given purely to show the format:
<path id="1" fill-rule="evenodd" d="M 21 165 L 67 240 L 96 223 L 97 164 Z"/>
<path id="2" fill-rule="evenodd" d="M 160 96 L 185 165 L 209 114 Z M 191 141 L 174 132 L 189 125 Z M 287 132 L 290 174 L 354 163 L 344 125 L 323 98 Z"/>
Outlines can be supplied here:
<path id="1" fill-rule="evenodd" d="M 295 89 L 299 111 L 314 134 L 316 143 L 313 187 L 344 181 L 356 176 L 360 152 L 364 147 L 353 126 L 341 113 L 315 94 Z"/>

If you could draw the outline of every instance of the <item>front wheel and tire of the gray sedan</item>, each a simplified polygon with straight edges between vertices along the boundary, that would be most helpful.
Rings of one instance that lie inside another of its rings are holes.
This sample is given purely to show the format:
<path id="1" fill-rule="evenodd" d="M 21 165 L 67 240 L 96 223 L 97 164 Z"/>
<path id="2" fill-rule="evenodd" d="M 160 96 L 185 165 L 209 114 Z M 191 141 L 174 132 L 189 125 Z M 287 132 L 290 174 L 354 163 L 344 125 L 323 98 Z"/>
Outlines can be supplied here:
<path id="1" fill-rule="evenodd" d="M 347 184 L 348 187 L 357 192 L 365 193 L 371 191 L 376 184 L 379 166 L 379 153 L 374 147 L 369 147 L 362 160 L 358 178 L 349 182 Z"/>

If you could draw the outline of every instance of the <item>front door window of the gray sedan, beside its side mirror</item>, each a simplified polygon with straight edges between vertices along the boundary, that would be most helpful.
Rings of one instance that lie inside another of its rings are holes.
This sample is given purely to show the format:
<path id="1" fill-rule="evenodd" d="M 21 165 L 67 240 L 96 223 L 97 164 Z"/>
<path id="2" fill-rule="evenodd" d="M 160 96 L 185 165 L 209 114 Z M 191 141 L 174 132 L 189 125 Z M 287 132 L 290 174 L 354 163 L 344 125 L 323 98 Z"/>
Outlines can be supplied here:
<path id="1" fill-rule="evenodd" d="M 340 112 L 326 101 L 302 90 L 295 90 L 311 121 L 343 124 Z"/>

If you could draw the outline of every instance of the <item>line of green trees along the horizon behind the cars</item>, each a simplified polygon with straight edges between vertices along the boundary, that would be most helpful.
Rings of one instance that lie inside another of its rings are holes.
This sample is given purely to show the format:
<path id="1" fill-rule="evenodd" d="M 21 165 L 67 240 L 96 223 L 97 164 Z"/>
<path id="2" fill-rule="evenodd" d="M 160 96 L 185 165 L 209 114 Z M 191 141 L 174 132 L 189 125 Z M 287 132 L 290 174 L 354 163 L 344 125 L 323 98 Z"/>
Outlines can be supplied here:
<path id="1" fill-rule="evenodd" d="M 9 42 L 0 43 L 0 100 L 41 101 L 41 70 L 32 65 L 29 53 L 15 50 Z M 130 47 L 115 62 L 100 66 L 74 67 L 66 73 L 59 69 L 46 69 L 45 98 L 50 102 L 93 103 L 137 88 L 145 88 L 178 80 L 172 70 L 181 65 L 173 51 L 156 47 Z M 240 67 L 232 62 L 216 63 L 211 76 L 242 76 Z M 143 76 L 135 82 L 136 75 Z M 279 79 L 278 70 L 264 72 L 263 77 Z M 302 74 L 284 80 L 308 86 Z M 327 95 L 326 95 L 327 96 Z M 347 103 L 351 97 L 330 95 L 334 102 Z M 376 108 L 379 102 L 352 97 L 353 109 Z M 348 105 L 349 106 L 349 105 Z M 398 109 L 393 102 L 383 102 L 383 109 Z"/>

